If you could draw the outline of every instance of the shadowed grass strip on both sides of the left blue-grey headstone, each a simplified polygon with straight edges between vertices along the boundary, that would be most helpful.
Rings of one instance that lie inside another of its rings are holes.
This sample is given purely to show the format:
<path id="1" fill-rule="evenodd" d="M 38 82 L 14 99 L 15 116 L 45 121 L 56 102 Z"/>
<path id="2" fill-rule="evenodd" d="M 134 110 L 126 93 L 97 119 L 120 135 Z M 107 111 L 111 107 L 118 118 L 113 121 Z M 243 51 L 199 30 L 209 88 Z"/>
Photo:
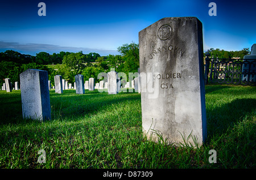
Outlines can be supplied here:
<path id="1" fill-rule="evenodd" d="M 49 91 L 52 119 L 71 119 L 84 117 L 85 114 L 94 114 L 107 110 L 110 106 L 124 101 L 140 100 L 138 93 L 120 92 L 117 95 L 108 95 L 106 92 L 85 90 L 85 94 L 76 94 L 75 89 L 64 90 L 62 94 Z M 20 93 L 1 96 L 0 125 L 19 124 L 30 122 L 22 117 L 22 102 Z M 112 107 L 111 107 L 112 108 Z"/>

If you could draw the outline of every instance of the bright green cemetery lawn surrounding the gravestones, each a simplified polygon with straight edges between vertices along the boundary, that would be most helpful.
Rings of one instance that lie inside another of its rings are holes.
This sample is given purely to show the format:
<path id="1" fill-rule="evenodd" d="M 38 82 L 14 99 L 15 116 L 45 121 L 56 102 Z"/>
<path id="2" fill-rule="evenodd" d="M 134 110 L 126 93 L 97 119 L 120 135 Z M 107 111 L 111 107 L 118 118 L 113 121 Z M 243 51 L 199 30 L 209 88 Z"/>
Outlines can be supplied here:
<path id="1" fill-rule="evenodd" d="M 205 92 L 208 139 L 192 148 L 143 138 L 138 93 L 50 90 L 52 120 L 40 123 L 22 118 L 20 91 L 0 91 L 0 168 L 256 168 L 256 88 Z"/>

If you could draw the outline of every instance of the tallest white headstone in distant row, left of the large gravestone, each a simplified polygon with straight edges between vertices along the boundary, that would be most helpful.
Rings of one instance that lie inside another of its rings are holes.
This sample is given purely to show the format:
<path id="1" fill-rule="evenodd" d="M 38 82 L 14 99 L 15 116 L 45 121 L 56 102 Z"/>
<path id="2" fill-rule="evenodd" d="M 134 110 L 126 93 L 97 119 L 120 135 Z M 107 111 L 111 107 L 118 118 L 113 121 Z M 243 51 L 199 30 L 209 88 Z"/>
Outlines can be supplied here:
<path id="1" fill-rule="evenodd" d="M 117 72 L 108 72 L 108 93 L 109 95 L 115 95 L 118 93 L 118 77 Z"/>

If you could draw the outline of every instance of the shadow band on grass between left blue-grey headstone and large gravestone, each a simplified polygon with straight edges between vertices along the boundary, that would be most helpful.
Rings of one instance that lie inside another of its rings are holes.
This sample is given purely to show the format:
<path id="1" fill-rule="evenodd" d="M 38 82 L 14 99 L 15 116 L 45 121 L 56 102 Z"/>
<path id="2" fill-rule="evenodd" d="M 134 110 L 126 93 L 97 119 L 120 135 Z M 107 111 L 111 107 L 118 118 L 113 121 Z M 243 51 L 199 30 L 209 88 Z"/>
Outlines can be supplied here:
<path id="1" fill-rule="evenodd" d="M 138 93 L 121 92 L 117 95 L 108 95 L 94 91 L 84 95 L 51 97 L 52 114 L 57 114 L 54 117 L 57 119 L 60 117 L 74 119 L 85 114 L 109 110 L 115 104 L 134 100 L 141 100 L 141 96 Z"/>

